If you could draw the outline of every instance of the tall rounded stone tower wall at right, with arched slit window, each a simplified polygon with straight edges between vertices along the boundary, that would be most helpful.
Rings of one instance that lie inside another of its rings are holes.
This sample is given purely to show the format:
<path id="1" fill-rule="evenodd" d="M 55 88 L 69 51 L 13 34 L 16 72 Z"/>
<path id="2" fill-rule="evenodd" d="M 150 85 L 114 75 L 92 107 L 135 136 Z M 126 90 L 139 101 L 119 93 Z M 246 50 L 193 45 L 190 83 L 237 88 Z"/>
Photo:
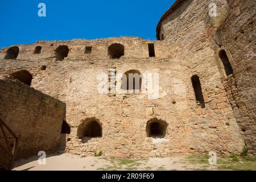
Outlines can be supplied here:
<path id="1" fill-rule="evenodd" d="M 216 17 L 209 16 L 209 3 L 217 5 Z M 246 146 L 253 155 L 256 151 L 254 22 L 255 1 L 188 0 L 176 1 L 163 16 L 157 29 L 158 38 L 163 34 L 164 42 L 170 46 L 181 45 L 183 48 L 178 52 L 183 55 L 195 55 L 197 49 L 204 51 L 203 47 L 212 49 L 210 52 L 216 54 L 216 59 L 210 61 L 215 64 L 216 72 L 218 68 L 222 85 L 245 136 Z M 221 49 L 226 51 L 234 71 L 228 77 L 218 55 Z M 187 63 L 189 65 L 189 61 Z M 200 65 L 205 68 L 209 63 Z M 195 69 L 199 68 L 192 64 Z"/>

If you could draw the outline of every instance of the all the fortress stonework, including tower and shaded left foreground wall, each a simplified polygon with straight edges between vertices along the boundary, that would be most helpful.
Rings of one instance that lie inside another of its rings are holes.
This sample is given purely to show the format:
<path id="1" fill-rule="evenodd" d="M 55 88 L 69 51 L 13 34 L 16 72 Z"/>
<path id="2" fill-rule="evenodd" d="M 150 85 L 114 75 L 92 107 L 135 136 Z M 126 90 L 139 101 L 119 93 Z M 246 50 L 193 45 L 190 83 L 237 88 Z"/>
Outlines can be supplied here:
<path id="1" fill-rule="evenodd" d="M 216 17 L 209 3 L 217 5 Z M 71 154 L 119 158 L 240 154 L 245 146 L 256 155 L 255 5 L 176 1 L 160 19 L 156 41 L 75 39 L 3 48 L 0 117 L 20 135 L 19 156 L 58 145 Z M 159 74 L 158 97 L 142 92 L 150 84 L 144 76 L 124 88 L 137 80 L 124 80 L 129 73 Z M 102 74 L 108 76 L 104 93 Z"/>

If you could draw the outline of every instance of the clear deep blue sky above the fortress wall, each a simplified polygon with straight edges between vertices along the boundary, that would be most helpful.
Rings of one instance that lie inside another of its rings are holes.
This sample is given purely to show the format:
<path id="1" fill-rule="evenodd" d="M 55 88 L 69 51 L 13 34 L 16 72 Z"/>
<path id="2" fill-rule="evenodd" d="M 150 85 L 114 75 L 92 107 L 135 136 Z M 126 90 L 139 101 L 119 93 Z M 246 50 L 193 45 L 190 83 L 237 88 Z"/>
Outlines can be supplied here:
<path id="1" fill-rule="evenodd" d="M 38 4 L 46 4 L 46 17 Z M 156 25 L 174 0 L 0 0 L 0 48 L 36 40 L 139 36 L 156 39 Z"/>

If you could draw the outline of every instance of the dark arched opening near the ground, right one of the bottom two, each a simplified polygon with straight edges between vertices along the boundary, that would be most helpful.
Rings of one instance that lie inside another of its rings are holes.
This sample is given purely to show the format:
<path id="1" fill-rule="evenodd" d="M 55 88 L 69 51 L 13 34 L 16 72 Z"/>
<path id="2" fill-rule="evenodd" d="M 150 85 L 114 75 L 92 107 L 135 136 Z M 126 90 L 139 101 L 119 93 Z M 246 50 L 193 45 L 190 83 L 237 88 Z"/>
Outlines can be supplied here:
<path id="1" fill-rule="evenodd" d="M 147 137 L 164 138 L 166 137 L 167 123 L 161 119 L 150 119 L 147 122 Z"/>

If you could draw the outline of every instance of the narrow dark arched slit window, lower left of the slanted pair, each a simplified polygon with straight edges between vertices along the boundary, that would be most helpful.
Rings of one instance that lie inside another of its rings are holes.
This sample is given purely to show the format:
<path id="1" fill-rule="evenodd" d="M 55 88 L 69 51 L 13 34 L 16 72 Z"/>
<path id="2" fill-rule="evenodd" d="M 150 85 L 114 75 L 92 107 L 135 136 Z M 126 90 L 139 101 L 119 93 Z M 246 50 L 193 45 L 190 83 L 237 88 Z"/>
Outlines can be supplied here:
<path id="1" fill-rule="evenodd" d="M 198 102 L 198 104 L 201 105 L 202 108 L 205 108 L 204 96 L 203 96 L 199 76 L 197 75 L 192 76 L 191 81 L 192 81 L 193 89 L 195 92 L 196 101 Z"/>

